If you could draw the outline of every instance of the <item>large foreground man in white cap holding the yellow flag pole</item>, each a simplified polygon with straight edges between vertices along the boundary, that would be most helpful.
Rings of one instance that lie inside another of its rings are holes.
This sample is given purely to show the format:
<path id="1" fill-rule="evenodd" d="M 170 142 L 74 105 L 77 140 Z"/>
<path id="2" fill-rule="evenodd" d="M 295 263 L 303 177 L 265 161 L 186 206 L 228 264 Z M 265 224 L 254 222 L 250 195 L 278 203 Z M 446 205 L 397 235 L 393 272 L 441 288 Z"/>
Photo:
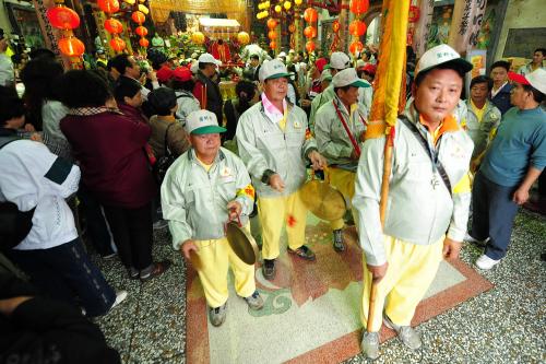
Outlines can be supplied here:
<path id="1" fill-rule="evenodd" d="M 456 258 L 468 219 L 468 165 L 473 143 L 453 109 L 472 64 L 447 45 L 427 50 L 415 69 L 414 102 L 395 126 L 389 203 L 381 226 L 379 201 L 385 138 L 366 140 L 358 162 L 353 206 L 364 249 L 361 349 L 379 356 L 383 322 L 402 342 L 420 347 L 410 325 L 442 257 Z M 367 327 L 371 284 L 375 316 Z"/>

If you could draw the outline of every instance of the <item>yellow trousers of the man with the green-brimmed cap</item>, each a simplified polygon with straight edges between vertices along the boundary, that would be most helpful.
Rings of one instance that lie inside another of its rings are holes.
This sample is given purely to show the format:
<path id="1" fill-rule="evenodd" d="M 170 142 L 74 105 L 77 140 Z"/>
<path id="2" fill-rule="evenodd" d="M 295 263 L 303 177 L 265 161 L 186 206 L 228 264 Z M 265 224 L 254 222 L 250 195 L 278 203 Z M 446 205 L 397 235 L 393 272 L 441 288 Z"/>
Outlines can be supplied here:
<path id="1" fill-rule="evenodd" d="M 248 226 L 246 227 L 248 230 Z M 203 285 L 206 303 L 216 308 L 228 297 L 227 273 L 229 267 L 235 275 L 235 291 L 248 297 L 256 291 L 254 266 L 247 265 L 233 251 L 227 238 L 195 240 L 201 267 L 198 274 Z"/>

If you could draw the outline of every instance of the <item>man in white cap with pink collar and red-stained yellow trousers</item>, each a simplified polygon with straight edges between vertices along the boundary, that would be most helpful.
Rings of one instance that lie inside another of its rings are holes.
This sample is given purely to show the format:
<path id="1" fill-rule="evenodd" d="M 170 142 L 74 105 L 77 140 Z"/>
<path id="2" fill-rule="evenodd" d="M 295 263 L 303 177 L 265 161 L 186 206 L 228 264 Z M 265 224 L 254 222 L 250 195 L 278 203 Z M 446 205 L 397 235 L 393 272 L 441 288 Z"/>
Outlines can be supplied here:
<path id="1" fill-rule="evenodd" d="M 307 209 L 299 189 L 307 177 L 307 161 L 314 169 L 327 165 L 307 128 L 304 110 L 286 101 L 288 77 L 286 66 L 280 60 L 264 62 L 260 69 L 262 101 L 242 114 L 237 125 L 239 155 L 259 196 L 262 272 L 268 280 L 275 277 L 275 259 L 280 255 L 285 222 L 288 253 L 314 260 L 314 254 L 304 245 Z"/>

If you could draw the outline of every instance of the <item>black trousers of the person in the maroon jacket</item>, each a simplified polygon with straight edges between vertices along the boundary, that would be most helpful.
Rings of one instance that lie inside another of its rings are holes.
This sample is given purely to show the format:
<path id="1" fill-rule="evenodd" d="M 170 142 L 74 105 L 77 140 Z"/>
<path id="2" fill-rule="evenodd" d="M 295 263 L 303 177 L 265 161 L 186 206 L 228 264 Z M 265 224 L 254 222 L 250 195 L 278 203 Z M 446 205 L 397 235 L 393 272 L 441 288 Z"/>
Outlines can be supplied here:
<path id="1" fill-rule="evenodd" d="M 150 268 L 153 240 L 151 203 L 135 209 L 105 206 L 104 210 L 123 266 L 138 270 Z"/>

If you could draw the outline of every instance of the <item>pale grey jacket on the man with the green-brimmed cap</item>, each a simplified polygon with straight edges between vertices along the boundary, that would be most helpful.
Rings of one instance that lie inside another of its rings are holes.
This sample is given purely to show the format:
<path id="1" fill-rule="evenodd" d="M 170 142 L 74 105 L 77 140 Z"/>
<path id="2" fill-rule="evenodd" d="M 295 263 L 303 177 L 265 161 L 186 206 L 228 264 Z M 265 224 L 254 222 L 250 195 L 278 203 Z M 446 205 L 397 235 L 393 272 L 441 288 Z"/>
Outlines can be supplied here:
<path id="1" fill-rule="evenodd" d="M 179 249 L 190 238 L 224 237 L 229 201 L 240 202 L 241 223 L 248 223 L 253 197 L 241 192 L 248 185 L 247 168 L 237 155 L 224 148 L 209 172 L 199 163 L 193 149 L 180 155 L 167 171 L 162 185 L 163 218 L 169 221 L 174 248 Z"/>

